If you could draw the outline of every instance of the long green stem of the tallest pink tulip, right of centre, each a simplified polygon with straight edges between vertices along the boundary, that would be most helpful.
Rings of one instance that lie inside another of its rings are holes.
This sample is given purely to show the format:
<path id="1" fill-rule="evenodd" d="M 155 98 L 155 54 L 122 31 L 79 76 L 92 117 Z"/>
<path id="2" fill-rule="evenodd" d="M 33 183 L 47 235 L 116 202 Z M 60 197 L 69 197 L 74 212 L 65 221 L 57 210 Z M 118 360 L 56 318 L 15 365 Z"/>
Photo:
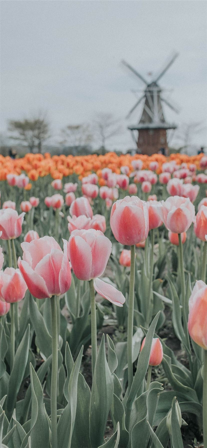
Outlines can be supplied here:
<path id="1" fill-rule="evenodd" d="M 135 246 L 131 246 L 131 264 L 129 280 L 129 310 L 127 328 L 127 363 L 128 363 L 128 395 L 133 382 L 132 341 L 134 323 L 134 276 L 135 276 Z"/>

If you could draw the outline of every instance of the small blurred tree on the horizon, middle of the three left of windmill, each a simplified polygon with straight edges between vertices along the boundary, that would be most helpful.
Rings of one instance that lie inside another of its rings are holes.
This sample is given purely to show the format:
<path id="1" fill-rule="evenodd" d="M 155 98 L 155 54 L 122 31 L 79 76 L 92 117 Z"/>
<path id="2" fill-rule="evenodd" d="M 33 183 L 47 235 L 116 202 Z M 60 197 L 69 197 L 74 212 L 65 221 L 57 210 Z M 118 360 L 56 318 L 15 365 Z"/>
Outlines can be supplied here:
<path id="1" fill-rule="evenodd" d="M 76 152 L 83 146 L 89 146 L 93 141 L 91 127 L 88 124 L 68 125 L 61 130 L 61 144 L 74 148 Z"/>

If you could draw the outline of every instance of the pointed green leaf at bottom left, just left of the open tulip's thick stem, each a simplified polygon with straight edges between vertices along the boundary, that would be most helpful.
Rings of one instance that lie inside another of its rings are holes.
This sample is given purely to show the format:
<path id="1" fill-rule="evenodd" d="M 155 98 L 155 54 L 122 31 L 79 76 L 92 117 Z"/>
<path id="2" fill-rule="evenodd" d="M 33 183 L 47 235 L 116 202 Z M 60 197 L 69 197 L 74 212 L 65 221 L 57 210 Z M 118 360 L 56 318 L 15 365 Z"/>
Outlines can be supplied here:
<path id="1" fill-rule="evenodd" d="M 30 431 L 23 439 L 21 448 L 26 448 L 29 436 L 31 438 L 31 446 L 35 446 L 35 448 L 50 447 L 50 428 L 43 406 L 43 389 L 31 364 L 30 381 L 32 393 Z"/>

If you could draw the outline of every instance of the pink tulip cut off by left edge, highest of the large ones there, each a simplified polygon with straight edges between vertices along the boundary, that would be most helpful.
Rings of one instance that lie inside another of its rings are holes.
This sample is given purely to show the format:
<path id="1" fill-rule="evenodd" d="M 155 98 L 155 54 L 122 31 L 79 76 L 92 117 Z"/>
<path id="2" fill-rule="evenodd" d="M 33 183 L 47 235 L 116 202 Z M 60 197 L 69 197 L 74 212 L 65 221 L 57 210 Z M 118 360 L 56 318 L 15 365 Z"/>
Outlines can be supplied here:
<path id="1" fill-rule="evenodd" d="M 0 231 L 2 231 L 2 240 L 11 240 L 18 238 L 22 233 L 22 223 L 25 213 L 18 215 L 12 208 L 0 210 Z"/>

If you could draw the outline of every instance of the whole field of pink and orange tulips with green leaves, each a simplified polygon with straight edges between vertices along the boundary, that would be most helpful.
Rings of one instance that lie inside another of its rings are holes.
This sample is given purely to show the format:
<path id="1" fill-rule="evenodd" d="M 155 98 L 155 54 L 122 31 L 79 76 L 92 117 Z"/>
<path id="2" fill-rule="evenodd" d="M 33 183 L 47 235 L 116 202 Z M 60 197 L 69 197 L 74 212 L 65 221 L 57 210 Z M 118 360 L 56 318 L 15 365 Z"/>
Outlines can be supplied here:
<path id="1" fill-rule="evenodd" d="M 0 156 L 0 448 L 207 448 L 207 156 Z"/>

